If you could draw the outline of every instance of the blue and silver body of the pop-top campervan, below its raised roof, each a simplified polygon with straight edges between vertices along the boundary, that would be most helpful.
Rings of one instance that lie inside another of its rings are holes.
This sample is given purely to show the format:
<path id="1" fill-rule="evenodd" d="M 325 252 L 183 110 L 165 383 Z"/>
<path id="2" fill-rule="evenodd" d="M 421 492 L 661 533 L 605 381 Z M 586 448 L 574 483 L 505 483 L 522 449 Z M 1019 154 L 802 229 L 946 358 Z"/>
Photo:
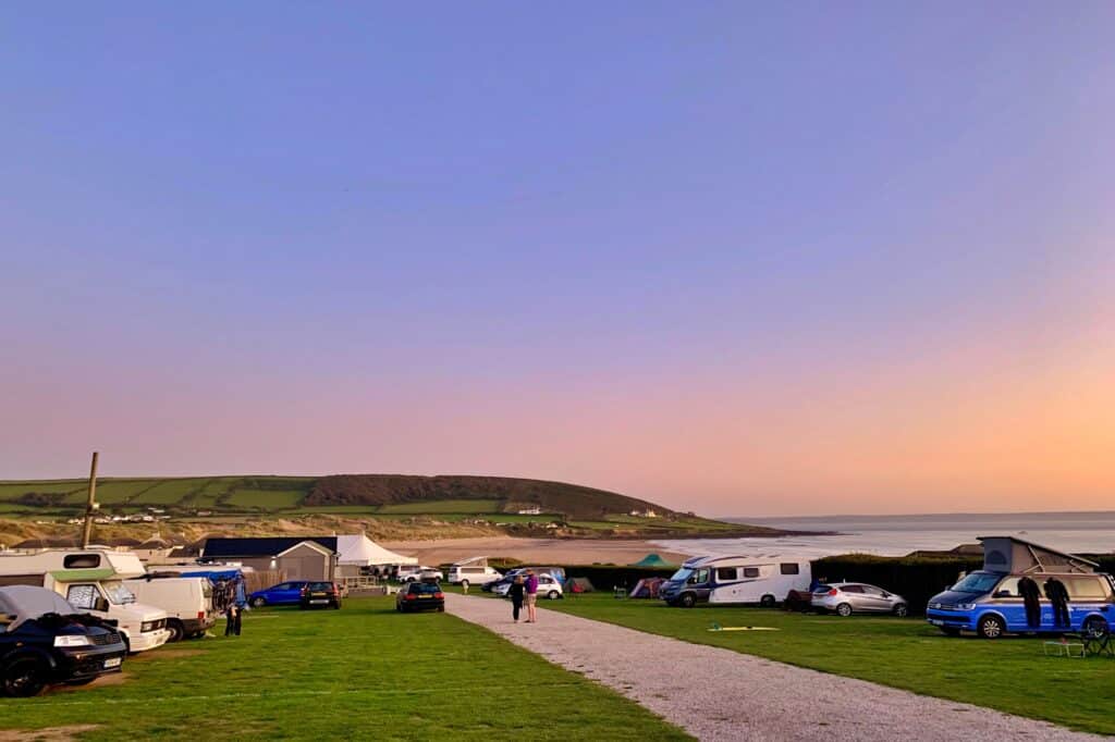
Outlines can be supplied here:
<path id="1" fill-rule="evenodd" d="M 1031 625 L 1026 618 L 1026 604 L 1018 589 L 1018 580 L 1029 576 L 1045 593 L 1045 583 L 1056 577 L 1068 592 L 1069 625 L 1058 624 L 1054 606 L 1040 599 L 1040 624 Z M 1102 635 L 1115 624 L 1115 580 L 1103 573 L 1092 574 L 1009 574 L 1001 572 L 973 572 L 948 590 L 934 595 L 925 611 L 925 618 L 946 634 L 962 631 L 976 632 L 983 638 L 998 638 L 1006 633 L 1064 634 L 1087 632 Z"/>

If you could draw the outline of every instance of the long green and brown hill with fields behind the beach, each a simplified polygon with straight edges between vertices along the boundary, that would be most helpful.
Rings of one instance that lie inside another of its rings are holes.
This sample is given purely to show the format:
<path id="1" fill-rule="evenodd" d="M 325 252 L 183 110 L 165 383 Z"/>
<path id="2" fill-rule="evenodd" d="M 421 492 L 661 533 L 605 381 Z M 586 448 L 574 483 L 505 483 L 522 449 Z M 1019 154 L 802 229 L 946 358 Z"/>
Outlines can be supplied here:
<path id="1" fill-rule="evenodd" d="M 68 518 L 85 507 L 80 479 L 0 481 L 0 517 Z M 105 516 L 158 508 L 198 517 L 337 516 L 428 525 L 479 525 L 506 533 L 671 537 L 775 533 L 680 514 L 648 500 L 581 485 L 511 477 L 334 475 L 326 477 L 137 477 L 97 480 Z M 521 514 L 537 509 L 539 514 Z M 653 510 L 657 517 L 632 516 Z M 551 524 L 560 524 L 560 527 Z M 536 535 L 536 534 L 533 534 Z"/>

